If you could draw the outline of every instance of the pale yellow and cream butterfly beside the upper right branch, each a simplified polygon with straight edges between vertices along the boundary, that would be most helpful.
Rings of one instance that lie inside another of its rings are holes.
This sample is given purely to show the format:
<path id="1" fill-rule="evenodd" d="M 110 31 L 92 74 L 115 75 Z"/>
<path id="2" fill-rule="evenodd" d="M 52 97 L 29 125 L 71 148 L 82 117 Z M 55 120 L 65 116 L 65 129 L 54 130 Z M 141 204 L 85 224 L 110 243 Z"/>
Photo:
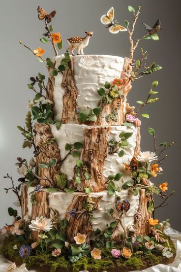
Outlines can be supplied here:
<path id="1" fill-rule="evenodd" d="M 109 31 L 112 34 L 117 34 L 120 31 L 127 31 L 126 28 L 122 27 L 121 25 L 116 24 L 117 21 L 114 20 L 114 8 L 111 7 L 107 14 L 101 16 L 100 21 L 103 25 L 107 25 L 106 28 L 109 28 Z"/>

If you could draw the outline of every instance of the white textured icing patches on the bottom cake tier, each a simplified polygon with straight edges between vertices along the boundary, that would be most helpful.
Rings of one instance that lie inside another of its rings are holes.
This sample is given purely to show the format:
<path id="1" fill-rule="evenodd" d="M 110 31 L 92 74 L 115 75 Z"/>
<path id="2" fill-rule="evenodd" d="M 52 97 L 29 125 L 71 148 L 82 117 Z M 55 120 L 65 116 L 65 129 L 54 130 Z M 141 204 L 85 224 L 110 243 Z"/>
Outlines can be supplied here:
<path id="1" fill-rule="evenodd" d="M 32 192 L 34 187 L 30 187 L 28 189 L 28 213 L 31 214 L 32 205 L 30 203 L 30 192 Z M 43 190 L 42 190 L 43 192 Z M 55 212 L 58 214 L 58 219 L 62 220 L 65 218 L 66 212 L 68 210 L 68 206 L 72 203 L 72 200 L 75 195 L 80 193 L 65 193 L 65 192 L 51 192 L 48 195 L 48 204 L 50 208 L 50 217 L 53 218 Z M 134 196 L 130 190 L 122 190 L 121 192 L 117 192 L 117 195 L 121 198 L 121 201 L 127 200 L 130 203 L 130 209 L 125 212 L 124 216 L 124 226 L 126 230 L 128 230 L 131 225 L 134 224 L 135 215 L 138 211 L 139 206 L 139 198 L 140 195 Z M 107 211 L 110 208 L 115 210 L 114 216 L 119 217 L 119 213 L 115 209 L 115 196 L 110 196 L 107 191 L 102 191 L 99 193 L 91 193 L 91 197 L 102 196 L 102 199 L 99 203 L 97 209 L 93 211 L 93 221 L 92 227 L 93 231 L 99 228 L 101 231 L 105 230 L 105 224 L 110 224 L 112 221 L 115 221 L 111 216 L 108 215 Z M 122 219 L 123 220 L 123 219 Z M 121 225 L 118 224 L 120 234 L 123 232 Z"/>

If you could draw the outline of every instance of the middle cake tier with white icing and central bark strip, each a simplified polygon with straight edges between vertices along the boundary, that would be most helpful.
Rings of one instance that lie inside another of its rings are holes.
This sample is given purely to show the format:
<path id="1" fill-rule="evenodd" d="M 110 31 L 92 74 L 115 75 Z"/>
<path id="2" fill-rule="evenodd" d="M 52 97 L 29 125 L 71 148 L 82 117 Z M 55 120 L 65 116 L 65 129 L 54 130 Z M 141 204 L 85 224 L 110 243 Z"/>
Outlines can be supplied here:
<path id="1" fill-rule="evenodd" d="M 123 175 L 119 181 L 115 181 L 117 187 L 130 179 L 129 171 L 124 169 L 122 163 L 128 164 L 140 151 L 140 128 L 63 124 L 57 130 L 55 125 L 49 126 L 60 150 L 60 173 L 66 175 L 68 188 L 76 187 L 78 191 L 84 191 L 85 188 L 91 188 L 93 192 L 103 191 L 106 189 L 108 176 L 119 172 Z M 74 157 L 69 154 L 70 150 L 66 150 L 65 145 L 69 144 L 73 148 L 77 142 L 82 143 L 82 148 L 78 150 L 79 157 L 78 152 L 75 152 Z M 75 182 L 77 160 L 82 160 L 91 175 L 90 179 L 83 182 L 81 180 L 80 184 Z"/>

